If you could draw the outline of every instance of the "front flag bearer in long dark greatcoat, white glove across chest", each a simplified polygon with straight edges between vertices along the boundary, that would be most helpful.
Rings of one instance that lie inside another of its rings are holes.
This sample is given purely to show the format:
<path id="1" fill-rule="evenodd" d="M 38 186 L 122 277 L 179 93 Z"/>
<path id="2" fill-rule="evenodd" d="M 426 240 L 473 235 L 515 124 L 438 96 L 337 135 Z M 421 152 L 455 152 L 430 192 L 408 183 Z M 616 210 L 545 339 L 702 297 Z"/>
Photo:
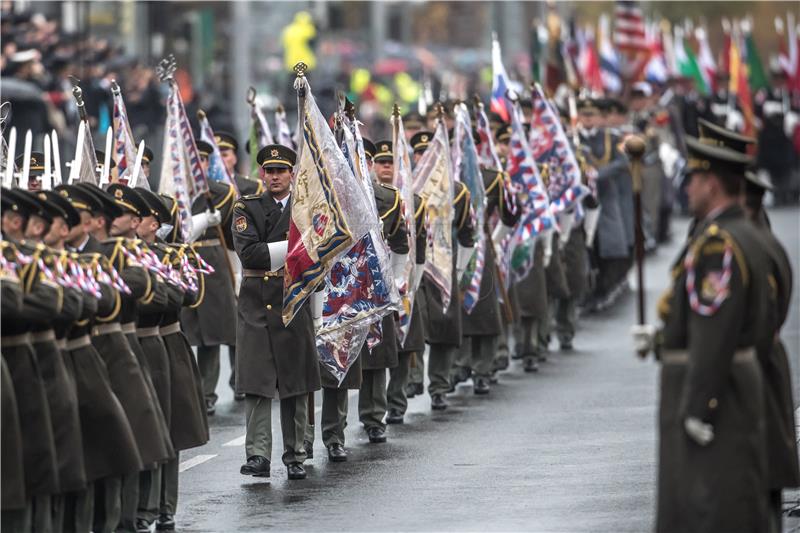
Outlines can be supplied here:
<path id="1" fill-rule="evenodd" d="M 246 395 L 247 462 L 244 475 L 268 477 L 272 455 L 272 398 L 280 395 L 283 463 L 289 479 L 305 479 L 303 446 L 309 392 L 320 388 L 314 321 L 322 320 L 321 294 L 312 295 L 288 326 L 282 319 L 283 266 L 291 219 L 290 183 L 296 154 L 261 149 L 267 192 L 234 205 L 233 244 L 242 262 L 238 303 L 236 389 Z M 312 317 L 311 308 L 315 313 Z"/>

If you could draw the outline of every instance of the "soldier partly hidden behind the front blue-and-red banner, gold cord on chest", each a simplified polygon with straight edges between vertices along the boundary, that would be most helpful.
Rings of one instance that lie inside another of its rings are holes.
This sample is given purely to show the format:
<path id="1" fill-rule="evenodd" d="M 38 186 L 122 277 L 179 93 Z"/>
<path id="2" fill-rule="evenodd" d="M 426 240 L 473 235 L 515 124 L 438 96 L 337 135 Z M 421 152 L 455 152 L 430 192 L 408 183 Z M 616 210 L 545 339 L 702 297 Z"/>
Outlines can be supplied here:
<path id="1" fill-rule="evenodd" d="M 408 234 L 400 202 L 400 191 L 389 185 L 394 176 L 392 141 L 375 143 L 373 170 L 376 178 L 375 203 L 383 223 L 383 238 L 391 250 L 393 268 L 401 268 L 408 255 Z M 396 278 L 397 276 L 395 276 Z M 358 393 L 358 416 L 372 443 L 386 442 L 384 416 L 387 410 L 386 370 L 398 365 L 397 335 L 394 314 L 381 321 L 381 341 L 370 350 L 364 343 L 361 361 L 361 387 Z"/>

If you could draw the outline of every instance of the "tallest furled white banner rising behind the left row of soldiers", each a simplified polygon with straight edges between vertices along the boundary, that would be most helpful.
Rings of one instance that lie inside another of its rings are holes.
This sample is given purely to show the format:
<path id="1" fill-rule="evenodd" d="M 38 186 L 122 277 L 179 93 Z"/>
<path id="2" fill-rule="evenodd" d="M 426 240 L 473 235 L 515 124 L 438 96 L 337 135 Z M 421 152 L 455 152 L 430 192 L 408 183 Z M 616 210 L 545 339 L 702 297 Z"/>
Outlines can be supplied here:
<path id="1" fill-rule="evenodd" d="M 208 182 L 200 165 L 192 126 L 174 81 L 169 85 L 167 97 L 162 154 L 158 192 L 175 198 L 180 214 L 181 235 L 184 241 L 188 241 L 192 231 L 192 202 L 208 192 Z"/>

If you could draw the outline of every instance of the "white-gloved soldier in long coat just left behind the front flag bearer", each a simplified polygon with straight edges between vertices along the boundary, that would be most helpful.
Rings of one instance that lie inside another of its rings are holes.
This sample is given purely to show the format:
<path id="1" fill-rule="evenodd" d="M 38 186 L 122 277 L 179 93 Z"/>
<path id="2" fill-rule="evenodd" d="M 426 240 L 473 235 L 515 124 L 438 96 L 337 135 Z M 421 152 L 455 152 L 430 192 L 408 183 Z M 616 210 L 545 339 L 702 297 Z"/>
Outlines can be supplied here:
<path id="1" fill-rule="evenodd" d="M 205 141 L 197 141 L 197 151 L 201 165 L 208 168 L 208 156 L 213 147 Z M 226 152 L 231 151 L 226 148 Z M 230 227 L 236 191 L 233 186 L 216 181 L 209 181 L 208 185 L 211 202 L 201 195 L 192 203 L 192 235 L 189 239 L 192 248 L 214 268 L 216 274 L 202 280 L 202 295 L 181 311 L 181 322 L 189 343 L 197 347 L 197 365 L 203 379 L 206 410 L 213 415 L 217 403 L 220 346 L 225 344 L 230 351 L 236 345 L 236 293 L 228 272 L 227 257 L 227 250 L 233 249 Z M 218 225 L 223 230 L 227 248 L 220 242 Z M 234 359 L 231 363 L 233 376 Z"/>

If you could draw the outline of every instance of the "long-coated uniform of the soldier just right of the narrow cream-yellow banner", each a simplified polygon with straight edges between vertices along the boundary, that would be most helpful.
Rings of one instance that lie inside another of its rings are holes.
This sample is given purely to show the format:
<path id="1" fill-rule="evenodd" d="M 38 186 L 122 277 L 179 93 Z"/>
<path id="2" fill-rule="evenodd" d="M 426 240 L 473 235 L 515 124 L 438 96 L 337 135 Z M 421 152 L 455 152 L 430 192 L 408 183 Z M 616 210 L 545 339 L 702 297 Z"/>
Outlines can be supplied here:
<path id="1" fill-rule="evenodd" d="M 451 281 L 451 302 L 447 309 L 443 308 L 439 289 L 427 278 L 422 278 L 422 291 L 418 298 L 425 305 L 428 317 L 428 330 L 425 342 L 430 347 L 428 353 L 428 394 L 431 407 L 436 410 L 447 408 L 444 395 L 450 390 L 450 369 L 456 358 L 456 351 L 461 346 L 461 295 L 456 275 L 456 261 L 460 247 L 474 246 L 475 230 L 470 211 L 470 194 L 467 186 L 457 181 L 454 183 L 453 197 L 453 276 Z"/>

